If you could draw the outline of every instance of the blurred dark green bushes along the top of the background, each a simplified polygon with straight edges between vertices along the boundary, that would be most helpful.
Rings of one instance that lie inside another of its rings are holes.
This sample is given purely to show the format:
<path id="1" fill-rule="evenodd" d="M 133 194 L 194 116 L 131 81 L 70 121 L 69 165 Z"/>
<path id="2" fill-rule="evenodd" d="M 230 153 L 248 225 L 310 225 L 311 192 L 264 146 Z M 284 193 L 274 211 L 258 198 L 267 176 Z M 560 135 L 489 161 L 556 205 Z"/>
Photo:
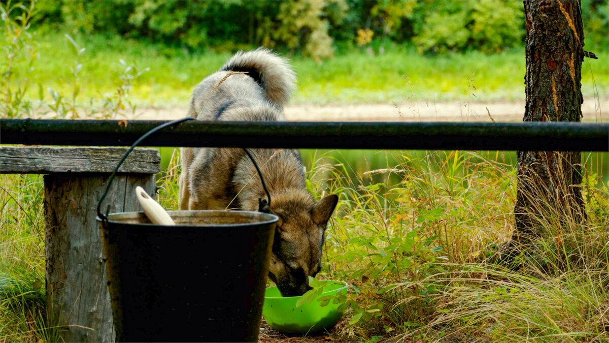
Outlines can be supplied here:
<path id="1" fill-rule="evenodd" d="M 189 50 L 234 51 L 264 45 L 319 61 L 337 46 L 356 46 L 370 30 L 375 53 L 390 43 L 421 52 L 522 47 L 524 7 L 518 1 L 43 1 L 34 20 L 71 34 L 94 32 L 147 39 Z M 586 39 L 607 49 L 607 1 L 583 1 Z M 366 47 L 368 48 L 368 46 Z"/>

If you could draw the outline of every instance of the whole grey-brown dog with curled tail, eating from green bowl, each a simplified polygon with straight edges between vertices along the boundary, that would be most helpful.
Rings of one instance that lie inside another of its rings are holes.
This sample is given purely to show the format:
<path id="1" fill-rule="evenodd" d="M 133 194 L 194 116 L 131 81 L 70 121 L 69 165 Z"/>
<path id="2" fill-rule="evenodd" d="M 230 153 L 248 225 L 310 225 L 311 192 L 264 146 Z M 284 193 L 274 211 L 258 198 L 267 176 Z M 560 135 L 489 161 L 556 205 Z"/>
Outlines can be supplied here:
<path id="1" fill-rule="evenodd" d="M 199 120 L 283 121 L 283 106 L 296 76 L 286 59 L 269 49 L 239 51 L 224 67 L 195 87 L 188 116 Z M 303 295 L 308 276 L 322 267 L 325 229 L 338 201 L 328 195 L 315 204 L 305 187 L 298 150 L 250 150 L 271 196 L 275 229 L 269 277 L 281 295 Z M 266 199 L 252 162 L 239 148 L 183 148 L 181 210 L 243 209 L 258 211 Z"/>

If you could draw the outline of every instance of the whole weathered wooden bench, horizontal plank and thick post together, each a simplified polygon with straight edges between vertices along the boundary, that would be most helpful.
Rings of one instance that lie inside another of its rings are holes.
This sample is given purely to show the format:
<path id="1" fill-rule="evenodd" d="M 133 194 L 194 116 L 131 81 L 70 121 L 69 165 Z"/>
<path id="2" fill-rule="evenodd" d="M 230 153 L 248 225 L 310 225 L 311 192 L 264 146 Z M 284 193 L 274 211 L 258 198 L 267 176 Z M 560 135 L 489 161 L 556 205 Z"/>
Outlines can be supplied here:
<path id="1" fill-rule="evenodd" d="M 114 342 L 97 200 L 126 148 L 0 148 L 2 173 L 44 176 L 46 297 L 49 326 L 65 342 Z M 135 187 L 155 194 L 160 171 L 155 149 L 134 150 L 102 205 L 110 212 L 139 211 Z"/>

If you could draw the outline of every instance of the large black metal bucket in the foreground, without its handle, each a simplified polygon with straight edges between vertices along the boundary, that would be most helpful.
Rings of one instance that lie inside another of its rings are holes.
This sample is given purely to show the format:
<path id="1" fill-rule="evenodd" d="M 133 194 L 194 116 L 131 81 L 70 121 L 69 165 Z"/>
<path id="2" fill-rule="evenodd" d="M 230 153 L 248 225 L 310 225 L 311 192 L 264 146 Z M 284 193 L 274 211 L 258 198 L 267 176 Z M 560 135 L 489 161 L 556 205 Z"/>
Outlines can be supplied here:
<path id="1" fill-rule="evenodd" d="M 257 341 L 278 217 L 169 215 L 176 226 L 143 212 L 102 225 L 117 341 Z"/>

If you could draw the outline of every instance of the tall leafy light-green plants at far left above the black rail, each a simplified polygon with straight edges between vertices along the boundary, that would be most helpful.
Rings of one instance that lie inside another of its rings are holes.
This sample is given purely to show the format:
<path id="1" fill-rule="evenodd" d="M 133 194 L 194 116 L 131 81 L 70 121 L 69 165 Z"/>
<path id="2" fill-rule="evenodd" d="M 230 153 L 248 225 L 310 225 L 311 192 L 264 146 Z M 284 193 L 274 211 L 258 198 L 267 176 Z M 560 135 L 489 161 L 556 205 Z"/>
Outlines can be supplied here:
<path id="1" fill-rule="evenodd" d="M 0 3 L 2 21 L 4 24 L 2 35 L 3 54 L 7 57 L 2 59 L 0 67 L 4 70 L 2 74 L 2 87 L 0 88 L 0 117 L 41 117 L 51 112 L 52 118 L 115 118 L 124 115 L 130 110 L 130 115 L 135 113 L 136 106 L 128 98 L 136 79 L 149 70 L 138 70 L 135 65 L 128 65 L 123 59 L 119 59 L 122 71 L 117 73 L 114 81 L 114 92 L 102 95 L 90 96 L 88 109 L 83 108 L 79 96 L 82 90 L 82 74 L 87 65 L 86 48 L 71 37 L 63 35 L 62 40 L 67 49 L 65 59 L 60 60 L 61 70 L 52 73 L 57 88 L 46 87 L 51 99 L 47 100 L 44 92 L 43 82 L 37 82 L 36 89 L 32 87 L 36 79 L 40 81 L 40 42 L 38 42 L 30 30 L 30 23 L 38 9 L 37 2 L 29 2 L 30 7 L 21 3 Z M 47 57 L 48 55 L 44 55 Z M 57 56 L 52 56 L 55 63 Z M 107 73 L 107 70 L 104 70 Z M 38 99 L 33 101 L 32 95 Z"/>

